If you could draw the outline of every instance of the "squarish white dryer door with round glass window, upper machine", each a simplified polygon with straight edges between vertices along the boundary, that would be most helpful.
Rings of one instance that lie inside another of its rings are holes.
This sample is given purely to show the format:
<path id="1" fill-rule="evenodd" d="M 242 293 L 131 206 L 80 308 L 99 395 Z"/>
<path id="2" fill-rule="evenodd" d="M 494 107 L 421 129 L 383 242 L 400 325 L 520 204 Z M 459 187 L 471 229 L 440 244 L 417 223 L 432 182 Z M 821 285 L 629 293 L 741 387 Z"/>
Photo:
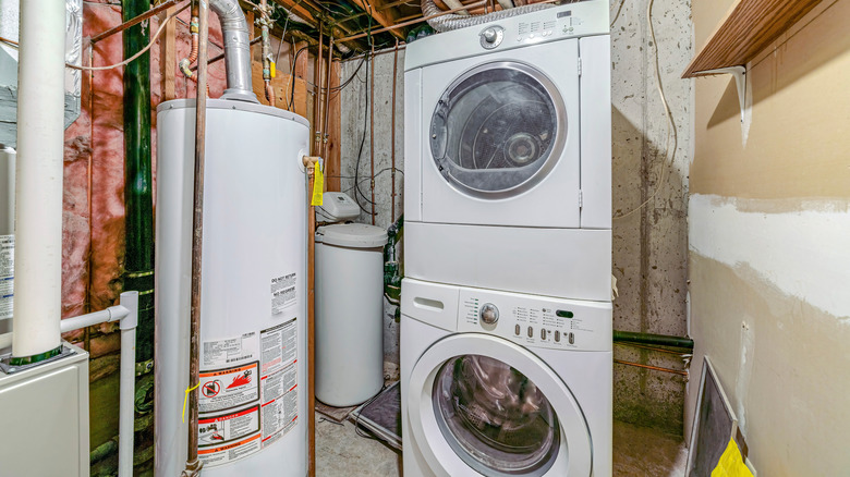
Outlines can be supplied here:
<path id="1" fill-rule="evenodd" d="M 423 221 L 580 227 L 578 64 L 563 40 L 423 69 Z"/>

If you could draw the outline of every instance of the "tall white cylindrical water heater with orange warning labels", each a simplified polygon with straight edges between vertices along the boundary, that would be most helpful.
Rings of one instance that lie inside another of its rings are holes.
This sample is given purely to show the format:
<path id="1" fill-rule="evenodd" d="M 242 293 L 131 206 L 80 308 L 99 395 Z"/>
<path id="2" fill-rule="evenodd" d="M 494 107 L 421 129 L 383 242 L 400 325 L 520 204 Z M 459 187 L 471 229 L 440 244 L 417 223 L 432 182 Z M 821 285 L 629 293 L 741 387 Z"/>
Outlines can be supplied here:
<path id="1" fill-rule="evenodd" d="M 157 108 L 156 475 L 186 461 L 194 99 Z M 198 456 L 203 475 L 307 473 L 308 123 L 207 101 Z"/>

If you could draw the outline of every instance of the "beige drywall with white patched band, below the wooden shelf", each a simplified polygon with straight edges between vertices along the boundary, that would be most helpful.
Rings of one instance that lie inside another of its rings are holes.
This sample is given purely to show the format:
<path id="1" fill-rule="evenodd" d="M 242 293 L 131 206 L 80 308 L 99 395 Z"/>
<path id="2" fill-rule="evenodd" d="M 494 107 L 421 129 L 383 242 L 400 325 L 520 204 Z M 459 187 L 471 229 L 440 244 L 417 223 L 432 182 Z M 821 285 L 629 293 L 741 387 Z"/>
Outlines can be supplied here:
<path id="1" fill-rule="evenodd" d="M 731 4 L 694 2 L 696 45 Z M 850 468 L 848 22 L 824 1 L 754 59 L 743 124 L 729 76 L 695 81 L 693 368 L 712 358 L 758 475 Z"/>

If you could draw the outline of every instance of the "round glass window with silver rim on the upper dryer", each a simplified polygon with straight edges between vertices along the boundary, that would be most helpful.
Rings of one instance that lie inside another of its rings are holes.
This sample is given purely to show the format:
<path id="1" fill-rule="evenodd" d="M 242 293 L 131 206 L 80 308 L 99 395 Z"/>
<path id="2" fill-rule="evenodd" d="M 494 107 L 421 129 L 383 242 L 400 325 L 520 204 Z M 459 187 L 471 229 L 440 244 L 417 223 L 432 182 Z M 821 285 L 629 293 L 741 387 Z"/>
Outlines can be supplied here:
<path id="1" fill-rule="evenodd" d="M 471 195 L 500 198 L 537 184 L 557 161 L 567 120 L 555 85 L 518 62 L 476 66 L 437 102 L 430 150 L 437 169 Z"/>

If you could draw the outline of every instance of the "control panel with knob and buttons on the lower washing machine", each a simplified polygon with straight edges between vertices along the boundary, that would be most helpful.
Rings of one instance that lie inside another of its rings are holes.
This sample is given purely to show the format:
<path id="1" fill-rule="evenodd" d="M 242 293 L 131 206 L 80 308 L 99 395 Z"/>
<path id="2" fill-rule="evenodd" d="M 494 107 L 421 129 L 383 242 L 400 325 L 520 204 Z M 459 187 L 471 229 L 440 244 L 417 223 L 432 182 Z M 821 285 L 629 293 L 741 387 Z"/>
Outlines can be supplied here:
<path id="1" fill-rule="evenodd" d="M 460 289 L 458 331 L 525 346 L 610 351 L 611 304 Z"/>

